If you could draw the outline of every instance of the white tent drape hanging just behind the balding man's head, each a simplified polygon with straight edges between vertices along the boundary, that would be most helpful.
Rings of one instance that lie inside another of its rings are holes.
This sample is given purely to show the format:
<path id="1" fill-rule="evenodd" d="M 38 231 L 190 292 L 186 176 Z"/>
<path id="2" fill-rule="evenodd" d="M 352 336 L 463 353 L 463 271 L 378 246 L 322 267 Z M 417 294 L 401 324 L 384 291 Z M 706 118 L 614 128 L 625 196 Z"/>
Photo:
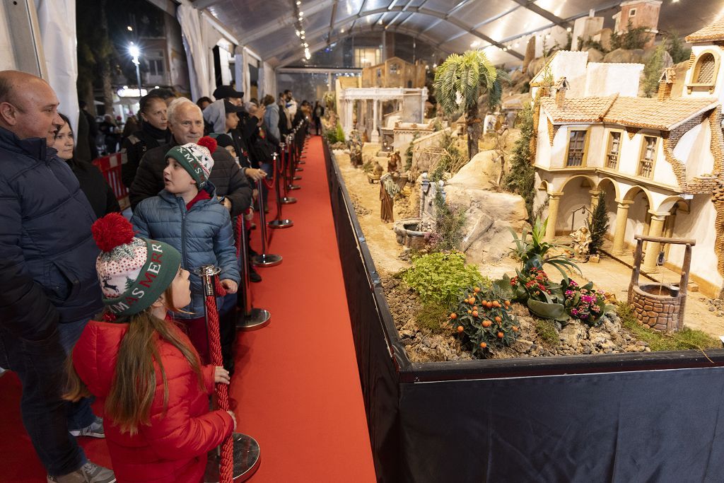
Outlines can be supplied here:
<path id="1" fill-rule="evenodd" d="M 75 0 L 35 0 L 38 11 L 47 81 L 60 101 L 58 110 L 70 119 L 73 130 L 78 127 L 77 41 L 75 38 Z"/>

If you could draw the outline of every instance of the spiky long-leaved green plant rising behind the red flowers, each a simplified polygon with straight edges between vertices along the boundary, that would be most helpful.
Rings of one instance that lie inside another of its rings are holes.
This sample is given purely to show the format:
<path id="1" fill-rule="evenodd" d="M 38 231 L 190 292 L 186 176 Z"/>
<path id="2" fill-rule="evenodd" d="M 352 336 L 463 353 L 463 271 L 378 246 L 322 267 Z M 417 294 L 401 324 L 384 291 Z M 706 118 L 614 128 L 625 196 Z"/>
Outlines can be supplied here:
<path id="1" fill-rule="evenodd" d="M 571 261 L 565 255 L 548 254 L 562 245 L 544 240 L 547 226 L 547 218 L 541 221 L 540 217 L 537 217 L 531 227 L 530 238 L 526 229 L 523 229 L 521 237 L 518 238 L 518 233 L 509 228 L 510 232 L 513 233 L 513 242 L 515 243 L 515 248 L 510 248 L 510 252 L 522 262 L 523 268 L 521 272 L 524 274 L 529 273 L 531 268 L 541 269 L 544 265 L 550 265 L 555 267 L 563 275 L 563 280 L 568 282 L 567 272 L 575 270 L 578 274 L 581 274 L 581 269 L 578 268 L 576 262 Z"/>

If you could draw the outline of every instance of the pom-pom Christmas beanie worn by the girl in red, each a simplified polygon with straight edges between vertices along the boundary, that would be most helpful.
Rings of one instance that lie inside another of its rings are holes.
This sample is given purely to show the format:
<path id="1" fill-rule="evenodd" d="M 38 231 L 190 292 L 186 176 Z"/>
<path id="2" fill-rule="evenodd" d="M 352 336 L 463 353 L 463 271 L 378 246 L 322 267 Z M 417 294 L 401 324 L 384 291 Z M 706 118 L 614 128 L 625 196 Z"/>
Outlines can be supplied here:
<path id="1" fill-rule="evenodd" d="M 101 248 L 96 272 L 103 302 L 111 314 L 138 314 L 158 300 L 181 266 L 181 254 L 167 243 L 135 237 L 119 213 L 99 218 L 91 227 Z"/>

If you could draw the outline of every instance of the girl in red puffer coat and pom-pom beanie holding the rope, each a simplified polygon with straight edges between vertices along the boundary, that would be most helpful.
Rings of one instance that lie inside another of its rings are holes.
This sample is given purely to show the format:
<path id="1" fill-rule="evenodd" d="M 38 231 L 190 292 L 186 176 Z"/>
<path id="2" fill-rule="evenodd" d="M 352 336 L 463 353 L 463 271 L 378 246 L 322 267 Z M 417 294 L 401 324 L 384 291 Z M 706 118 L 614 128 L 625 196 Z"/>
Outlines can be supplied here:
<path id="1" fill-rule="evenodd" d="M 95 395 L 118 482 L 203 479 L 206 453 L 236 427 L 231 411 L 209 411 L 220 366 L 198 353 L 167 311 L 190 303 L 188 272 L 171 245 L 135 238 L 120 214 L 93 224 L 104 292 L 103 321 L 85 327 L 69 364 L 66 398 Z"/>

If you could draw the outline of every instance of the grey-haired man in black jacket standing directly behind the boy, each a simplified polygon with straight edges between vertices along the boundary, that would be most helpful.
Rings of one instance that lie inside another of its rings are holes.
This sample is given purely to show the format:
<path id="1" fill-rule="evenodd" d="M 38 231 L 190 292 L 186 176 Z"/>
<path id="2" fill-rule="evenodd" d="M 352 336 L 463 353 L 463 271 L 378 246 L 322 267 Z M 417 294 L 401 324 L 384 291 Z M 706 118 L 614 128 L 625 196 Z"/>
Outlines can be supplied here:
<path id="1" fill-rule="evenodd" d="M 201 109 L 188 98 L 177 98 L 168 109 L 171 143 L 149 149 L 138 165 L 135 179 L 130 188 L 131 208 L 141 200 L 156 196 L 164 189 L 164 168 L 166 153 L 170 148 L 186 143 L 196 143 L 203 135 Z M 222 203 L 232 217 L 242 214 L 251 206 L 251 187 L 229 152 L 217 147 L 211 154 L 214 167 L 209 181 L 216 186 L 216 195 L 223 197 Z"/>

